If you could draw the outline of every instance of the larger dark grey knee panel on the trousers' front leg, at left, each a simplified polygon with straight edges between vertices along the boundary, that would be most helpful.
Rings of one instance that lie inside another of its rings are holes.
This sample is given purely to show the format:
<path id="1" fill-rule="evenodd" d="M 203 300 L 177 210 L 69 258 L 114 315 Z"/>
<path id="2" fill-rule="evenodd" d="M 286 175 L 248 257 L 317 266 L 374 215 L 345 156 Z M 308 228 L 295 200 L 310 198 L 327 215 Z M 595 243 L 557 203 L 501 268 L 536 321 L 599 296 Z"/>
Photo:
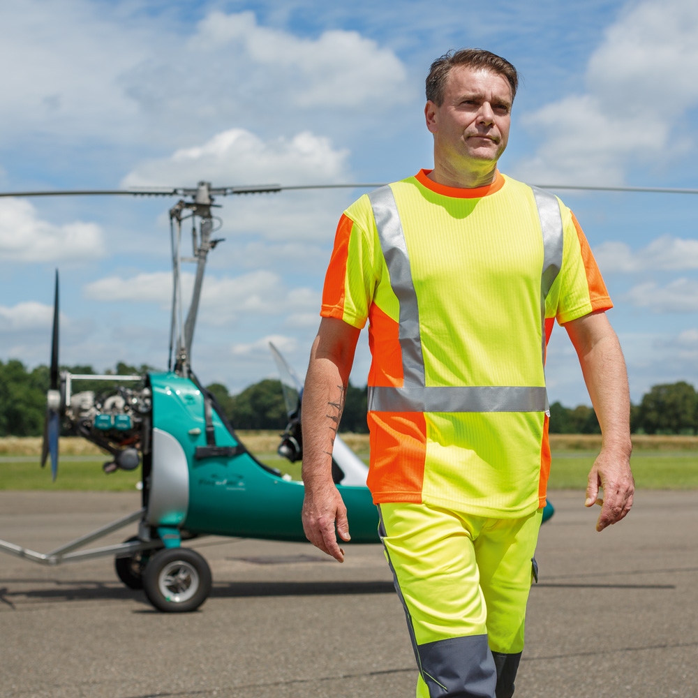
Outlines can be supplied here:
<path id="1" fill-rule="evenodd" d="M 431 698 L 495 698 L 497 670 L 486 634 L 427 642 L 417 651 Z"/>

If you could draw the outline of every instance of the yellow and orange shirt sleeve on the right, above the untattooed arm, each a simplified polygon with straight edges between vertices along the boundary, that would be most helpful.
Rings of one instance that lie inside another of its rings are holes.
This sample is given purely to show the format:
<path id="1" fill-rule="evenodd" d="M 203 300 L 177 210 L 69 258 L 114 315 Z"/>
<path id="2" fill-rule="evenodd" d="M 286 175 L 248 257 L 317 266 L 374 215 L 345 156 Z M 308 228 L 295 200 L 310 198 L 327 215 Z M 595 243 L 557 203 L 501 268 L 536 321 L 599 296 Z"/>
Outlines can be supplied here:
<path id="1" fill-rule="evenodd" d="M 546 302 L 546 316 L 560 325 L 613 307 L 584 231 L 567 207 L 563 216 L 563 265 Z"/>

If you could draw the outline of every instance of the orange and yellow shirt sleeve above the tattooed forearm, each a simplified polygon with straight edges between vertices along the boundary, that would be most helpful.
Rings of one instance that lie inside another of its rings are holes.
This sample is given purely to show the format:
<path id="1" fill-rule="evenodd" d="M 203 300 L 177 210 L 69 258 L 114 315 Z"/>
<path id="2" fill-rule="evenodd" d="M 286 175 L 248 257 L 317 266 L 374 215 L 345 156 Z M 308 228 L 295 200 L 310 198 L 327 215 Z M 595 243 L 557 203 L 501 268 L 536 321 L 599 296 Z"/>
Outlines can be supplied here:
<path id="1" fill-rule="evenodd" d="M 375 288 L 373 237 L 345 212 L 337 225 L 320 315 L 338 318 L 360 329 L 369 317 Z"/>

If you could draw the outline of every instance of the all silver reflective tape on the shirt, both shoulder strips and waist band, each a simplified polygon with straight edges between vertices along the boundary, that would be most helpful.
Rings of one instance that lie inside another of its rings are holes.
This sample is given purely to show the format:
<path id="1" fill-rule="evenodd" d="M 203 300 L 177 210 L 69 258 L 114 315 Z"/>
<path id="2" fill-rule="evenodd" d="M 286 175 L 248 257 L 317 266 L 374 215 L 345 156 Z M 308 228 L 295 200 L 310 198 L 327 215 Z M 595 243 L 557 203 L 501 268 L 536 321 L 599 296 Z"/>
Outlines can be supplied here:
<path id="1" fill-rule="evenodd" d="M 532 187 L 543 237 L 540 281 L 542 362 L 545 359 L 545 299 L 560 272 L 563 258 L 563 223 L 554 195 Z M 412 279 L 410 256 L 395 197 L 390 186 L 369 193 L 378 239 L 390 284 L 399 300 L 399 342 L 403 387 L 369 385 L 369 410 L 373 412 L 544 412 L 547 393 L 537 386 L 426 386 L 424 355 L 419 332 L 419 305 Z"/>

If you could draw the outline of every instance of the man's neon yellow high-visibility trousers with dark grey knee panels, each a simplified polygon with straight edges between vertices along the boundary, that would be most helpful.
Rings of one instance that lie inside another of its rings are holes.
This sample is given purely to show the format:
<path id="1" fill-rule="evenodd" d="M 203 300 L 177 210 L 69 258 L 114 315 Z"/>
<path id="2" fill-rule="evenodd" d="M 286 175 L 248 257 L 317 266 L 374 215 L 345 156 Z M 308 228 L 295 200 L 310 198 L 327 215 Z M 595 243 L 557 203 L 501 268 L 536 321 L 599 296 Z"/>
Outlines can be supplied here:
<path id="1" fill-rule="evenodd" d="M 415 649 L 417 698 L 510 698 L 542 509 L 521 519 L 408 503 L 378 510 Z"/>

